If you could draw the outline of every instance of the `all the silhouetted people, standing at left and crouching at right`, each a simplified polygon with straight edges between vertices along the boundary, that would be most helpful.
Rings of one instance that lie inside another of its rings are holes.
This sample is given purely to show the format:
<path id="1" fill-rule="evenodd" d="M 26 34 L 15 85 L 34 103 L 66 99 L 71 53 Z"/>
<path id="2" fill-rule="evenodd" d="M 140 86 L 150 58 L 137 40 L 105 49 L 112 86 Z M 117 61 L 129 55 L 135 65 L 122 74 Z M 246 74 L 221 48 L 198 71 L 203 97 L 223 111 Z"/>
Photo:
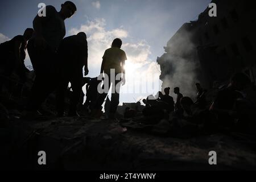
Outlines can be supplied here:
<path id="1" fill-rule="evenodd" d="M 26 49 L 35 72 L 30 98 L 27 103 L 27 114 L 39 114 L 39 108 L 52 92 L 56 92 L 57 115 L 65 115 L 65 92 L 69 82 L 72 94 L 69 105 L 69 116 L 76 116 L 77 104 L 82 94 L 82 86 L 86 85 L 86 101 L 84 106 L 91 110 L 94 117 L 100 117 L 102 104 L 112 85 L 112 97 L 109 104 L 109 118 L 115 118 L 119 104 L 120 86 L 125 84 L 126 53 L 121 49 L 122 40 L 114 39 L 112 46 L 106 49 L 102 57 L 100 74 L 104 73 L 102 80 L 96 78 L 85 79 L 88 75 L 88 44 L 85 32 L 77 35 L 65 36 L 64 20 L 76 12 L 76 5 L 67 1 L 56 11 L 53 6 L 46 6 L 46 16 L 36 15 L 33 28 L 27 28 L 23 35 L 0 44 L 1 69 L 0 89 L 7 84 L 13 72 L 19 75 L 20 90 L 26 82 L 26 73 L 29 72 L 24 65 Z M 84 68 L 84 69 L 83 69 Z M 113 70 L 113 71 L 112 71 Z M 21 86 L 20 86 L 21 85 Z M 100 85 L 100 86 L 99 86 Z M 99 92 L 104 90 L 104 92 Z M 250 98 L 255 95 L 255 86 L 243 73 L 236 73 L 230 84 L 218 92 L 217 97 L 209 105 L 206 97 L 207 90 L 199 83 L 196 84 L 196 100 L 184 97 L 180 88 L 174 88 L 176 102 L 170 96 L 171 88 L 164 88 L 164 94 L 148 96 L 143 100 L 146 107 L 143 115 L 151 123 L 161 119 L 169 119 L 170 114 L 174 123 L 177 119 L 186 119 L 198 125 L 214 125 L 239 129 L 247 129 L 255 121 L 255 103 Z M 253 93 L 253 94 L 251 94 Z M 83 101 L 82 101 L 83 102 Z M 126 117 L 134 115 L 130 108 L 126 109 Z M 215 121 L 212 122 L 212 118 Z"/>

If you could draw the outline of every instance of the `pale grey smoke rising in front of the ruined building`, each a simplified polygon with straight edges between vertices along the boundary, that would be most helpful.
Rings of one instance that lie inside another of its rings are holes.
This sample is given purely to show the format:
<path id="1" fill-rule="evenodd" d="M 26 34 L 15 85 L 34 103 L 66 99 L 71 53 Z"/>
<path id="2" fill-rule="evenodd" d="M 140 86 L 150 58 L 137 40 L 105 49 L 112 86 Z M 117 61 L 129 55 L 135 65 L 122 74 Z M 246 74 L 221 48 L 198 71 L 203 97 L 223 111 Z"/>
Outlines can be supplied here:
<path id="1" fill-rule="evenodd" d="M 192 32 L 188 31 L 184 24 L 179 31 L 167 43 L 166 52 L 162 59 L 162 89 L 170 87 L 180 88 L 183 96 L 195 97 L 195 84 L 198 81 L 199 61 L 196 45 L 192 42 Z M 171 93 L 174 95 L 173 93 Z"/>

